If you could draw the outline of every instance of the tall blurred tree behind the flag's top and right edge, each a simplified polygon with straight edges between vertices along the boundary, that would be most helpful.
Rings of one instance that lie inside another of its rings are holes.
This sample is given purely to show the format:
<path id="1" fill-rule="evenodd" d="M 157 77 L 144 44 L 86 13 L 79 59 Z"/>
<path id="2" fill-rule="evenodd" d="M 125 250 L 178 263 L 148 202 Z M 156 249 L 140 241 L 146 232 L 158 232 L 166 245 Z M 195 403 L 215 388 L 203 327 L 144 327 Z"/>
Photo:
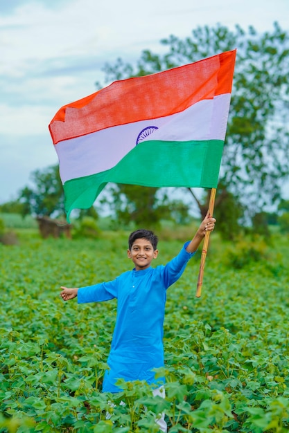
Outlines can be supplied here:
<path id="1" fill-rule="evenodd" d="M 105 81 L 148 75 L 237 48 L 220 184 L 223 192 L 232 194 L 231 199 L 234 196 L 236 203 L 242 203 L 247 216 L 277 203 L 289 173 L 289 33 L 277 23 L 262 34 L 253 27 L 245 32 L 240 26 L 229 30 L 219 24 L 198 27 L 185 39 L 171 35 L 161 44 L 166 53 L 144 50 L 135 65 L 122 59 L 106 64 Z M 227 199 L 227 194 L 221 194 L 218 205 Z M 203 216 L 208 198 L 196 203 Z M 238 212 L 234 218 L 227 221 L 230 232 L 238 226 Z"/>

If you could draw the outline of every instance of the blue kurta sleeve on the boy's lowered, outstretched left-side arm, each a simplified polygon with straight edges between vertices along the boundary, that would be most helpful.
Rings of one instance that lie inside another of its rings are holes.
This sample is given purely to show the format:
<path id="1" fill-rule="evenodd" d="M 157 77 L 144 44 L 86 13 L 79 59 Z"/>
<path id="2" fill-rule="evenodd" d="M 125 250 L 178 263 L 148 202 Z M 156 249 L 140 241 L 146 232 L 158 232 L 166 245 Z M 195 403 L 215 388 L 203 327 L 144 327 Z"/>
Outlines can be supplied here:
<path id="1" fill-rule="evenodd" d="M 78 304 L 109 301 L 117 297 L 118 279 L 78 289 Z"/>

